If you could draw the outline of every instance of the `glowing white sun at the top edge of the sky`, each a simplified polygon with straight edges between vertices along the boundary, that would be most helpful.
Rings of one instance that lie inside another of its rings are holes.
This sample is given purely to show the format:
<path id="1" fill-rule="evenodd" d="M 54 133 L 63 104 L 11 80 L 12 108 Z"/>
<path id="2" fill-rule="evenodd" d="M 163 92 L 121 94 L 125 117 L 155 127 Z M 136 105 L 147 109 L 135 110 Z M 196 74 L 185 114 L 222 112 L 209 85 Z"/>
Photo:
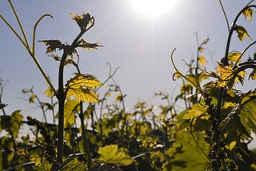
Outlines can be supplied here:
<path id="1" fill-rule="evenodd" d="M 156 18 L 172 10 L 174 0 L 133 0 L 134 10 L 150 18 Z"/>

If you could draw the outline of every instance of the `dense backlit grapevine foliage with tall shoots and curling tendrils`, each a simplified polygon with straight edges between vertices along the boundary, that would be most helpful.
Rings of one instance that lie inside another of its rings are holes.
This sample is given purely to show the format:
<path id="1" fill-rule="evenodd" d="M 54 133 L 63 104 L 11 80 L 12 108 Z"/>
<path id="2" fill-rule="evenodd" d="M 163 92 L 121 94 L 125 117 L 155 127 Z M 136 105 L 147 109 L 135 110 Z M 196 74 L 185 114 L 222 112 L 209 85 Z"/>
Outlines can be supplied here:
<path id="1" fill-rule="evenodd" d="M 256 152 L 248 149 L 251 135 L 256 133 L 256 89 L 236 89 L 247 79 L 256 79 L 256 54 L 252 54 L 253 58 L 244 55 L 256 42 L 242 52 L 229 50 L 234 31 L 241 41 L 250 38 L 237 21 L 242 16 L 252 19 L 256 7 L 252 2 L 228 28 L 226 54 L 216 70 L 205 69 L 206 58 L 202 53 L 209 39 L 198 43 L 198 54 L 186 63 L 186 71 L 175 66 L 173 50 L 174 79 L 182 82 L 174 103 L 170 104 L 168 93 L 159 92 L 155 95 L 166 101 L 165 105 L 138 102 L 129 112 L 126 94 L 114 82 L 117 70 L 113 72 L 109 65 L 110 74 L 104 82 L 80 73 L 77 49 L 101 47 L 82 38 L 94 26 L 94 17 L 72 14 L 80 33 L 70 45 L 59 40 L 40 41 L 47 46 L 46 54 L 59 62 L 58 88 L 54 88 L 34 52 L 38 23 L 51 16 L 43 15 L 36 22 L 30 48 L 10 2 L 23 35 L 2 15 L 0 18 L 22 42 L 46 79 L 49 88 L 45 94 L 49 101 L 41 101 L 33 88 L 23 89 L 28 101 L 42 109 L 44 120 L 23 118 L 20 110 L 6 113 L 2 101 L 6 82 L 0 80 L 0 131 L 5 133 L 0 137 L 0 170 L 256 170 Z M 62 57 L 56 51 L 62 51 Z M 64 84 L 67 66 L 74 66 L 77 73 Z M 102 85 L 108 86 L 108 90 L 99 96 Z M 177 101 L 184 102 L 181 112 L 176 111 Z M 19 132 L 23 125 L 30 126 L 30 133 Z"/>

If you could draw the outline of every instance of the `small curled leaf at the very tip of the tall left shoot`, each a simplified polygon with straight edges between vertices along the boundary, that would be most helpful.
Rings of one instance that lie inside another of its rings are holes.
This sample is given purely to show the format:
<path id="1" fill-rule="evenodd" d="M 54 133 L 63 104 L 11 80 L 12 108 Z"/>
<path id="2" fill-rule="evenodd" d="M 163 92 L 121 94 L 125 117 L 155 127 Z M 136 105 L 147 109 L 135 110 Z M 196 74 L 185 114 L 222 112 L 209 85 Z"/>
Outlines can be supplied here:
<path id="1" fill-rule="evenodd" d="M 77 22 L 78 26 L 82 31 L 86 31 L 86 28 L 88 24 L 91 21 L 91 17 L 89 13 L 82 14 L 82 15 L 77 15 L 77 14 L 71 14 L 72 18 L 74 19 L 75 22 Z"/>

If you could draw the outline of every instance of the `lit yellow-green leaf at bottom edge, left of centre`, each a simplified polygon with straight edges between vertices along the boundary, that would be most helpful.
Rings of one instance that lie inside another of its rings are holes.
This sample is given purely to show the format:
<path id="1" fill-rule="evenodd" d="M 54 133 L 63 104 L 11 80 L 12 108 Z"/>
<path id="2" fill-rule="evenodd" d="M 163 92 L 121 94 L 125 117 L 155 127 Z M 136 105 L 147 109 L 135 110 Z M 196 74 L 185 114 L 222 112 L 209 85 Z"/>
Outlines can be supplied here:
<path id="1" fill-rule="evenodd" d="M 130 165 L 134 159 L 123 152 L 118 152 L 118 145 L 106 145 L 98 149 L 99 160 L 106 164 Z"/>

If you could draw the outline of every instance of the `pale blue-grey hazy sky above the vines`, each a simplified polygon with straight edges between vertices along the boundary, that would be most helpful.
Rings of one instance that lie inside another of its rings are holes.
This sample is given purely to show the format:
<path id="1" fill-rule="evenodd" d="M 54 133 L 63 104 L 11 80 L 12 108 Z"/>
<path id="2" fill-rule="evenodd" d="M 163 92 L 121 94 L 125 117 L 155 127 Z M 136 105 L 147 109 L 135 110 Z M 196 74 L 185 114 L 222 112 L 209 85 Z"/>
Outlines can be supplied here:
<path id="1" fill-rule="evenodd" d="M 79 28 L 70 14 L 89 12 L 94 16 L 95 25 L 83 38 L 87 42 L 98 42 L 102 47 L 98 50 L 78 51 L 82 74 L 92 74 L 103 82 L 109 74 L 106 62 L 111 64 L 112 70 L 120 67 L 114 79 L 121 86 L 122 92 L 127 94 L 126 103 L 130 107 L 137 101 L 159 101 L 159 98 L 154 97 L 155 92 L 178 93 L 180 82 L 172 80 L 174 67 L 170 62 L 170 54 L 177 48 L 174 61 L 180 70 L 186 70 L 182 60 L 189 62 L 191 58 L 195 58 L 195 33 L 198 34 L 199 42 L 210 38 L 203 54 L 209 62 L 207 69 L 213 69 L 225 53 L 228 32 L 218 0 L 170 0 L 172 4 L 168 5 L 169 8 L 162 14 L 157 14 L 156 10 L 150 13 L 142 12 L 143 7 L 134 8 L 131 0 L 12 2 L 30 42 L 34 23 L 42 14 L 51 14 L 54 18 L 44 18 L 40 22 L 36 40 L 59 39 L 66 43 L 73 42 L 79 33 Z M 238 11 L 249 1 L 222 2 L 231 24 Z M 18 29 L 7 0 L 0 1 L 0 14 Z M 238 22 L 247 26 L 246 29 L 252 39 L 240 42 L 234 34 L 230 50 L 242 51 L 246 44 L 255 40 L 255 26 L 253 22 L 245 21 L 244 18 L 240 18 Z M 46 46 L 42 42 L 37 42 L 38 61 L 54 85 L 57 85 L 58 62 L 54 62 L 45 52 Z M 25 48 L 2 21 L 0 54 L 0 78 L 8 79 L 2 95 L 2 102 L 9 104 L 6 107 L 7 113 L 22 109 L 25 116 L 37 115 L 34 113 L 33 105 L 24 100 L 27 97 L 22 95 L 22 89 L 34 86 L 35 93 L 43 99 L 43 90 L 47 88 L 46 82 Z M 74 68 L 66 68 L 66 81 L 74 72 Z M 250 89 L 253 83 L 245 87 Z"/>

